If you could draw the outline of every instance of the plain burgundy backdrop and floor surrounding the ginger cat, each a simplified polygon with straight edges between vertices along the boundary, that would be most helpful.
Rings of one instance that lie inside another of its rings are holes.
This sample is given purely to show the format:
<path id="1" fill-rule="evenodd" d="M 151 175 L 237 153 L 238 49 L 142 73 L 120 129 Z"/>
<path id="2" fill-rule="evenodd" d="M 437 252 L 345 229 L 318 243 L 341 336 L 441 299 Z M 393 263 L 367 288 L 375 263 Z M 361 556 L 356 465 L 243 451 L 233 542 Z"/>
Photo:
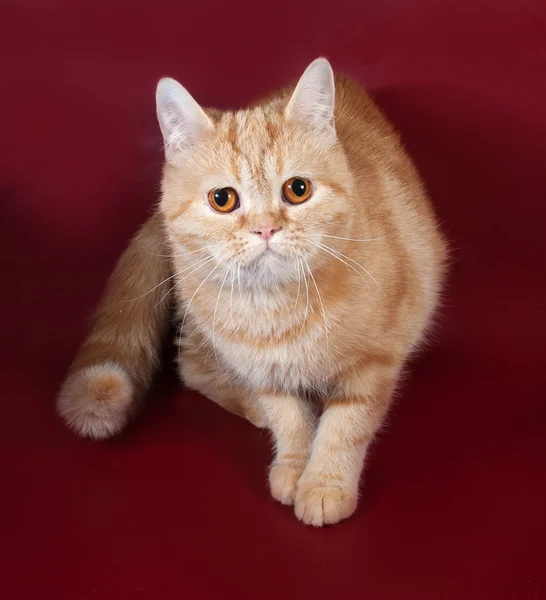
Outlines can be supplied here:
<path id="1" fill-rule="evenodd" d="M 546 598 L 541 0 L 3 0 L 2 597 Z M 119 439 L 56 390 L 157 199 L 154 88 L 236 108 L 327 55 L 397 124 L 454 247 L 437 341 L 355 517 L 300 525 L 267 435 L 171 375 Z"/>

